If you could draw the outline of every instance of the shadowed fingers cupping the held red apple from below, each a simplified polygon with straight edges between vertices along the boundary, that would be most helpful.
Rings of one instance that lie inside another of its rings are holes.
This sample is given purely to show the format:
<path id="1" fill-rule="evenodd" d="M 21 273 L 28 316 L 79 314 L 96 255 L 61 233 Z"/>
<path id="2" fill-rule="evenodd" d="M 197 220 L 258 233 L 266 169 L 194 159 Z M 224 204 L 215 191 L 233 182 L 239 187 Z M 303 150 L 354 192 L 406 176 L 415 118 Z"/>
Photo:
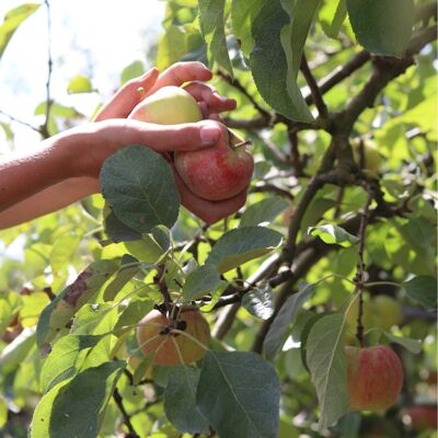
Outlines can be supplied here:
<path id="1" fill-rule="evenodd" d="M 232 198 L 219 201 L 206 200 L 194 195 L 174 170 L 176 186 L 180 192 L 181 203 L 206 223 L 215 223 L 242 208 L 246 200 L 246 189 Z"/>

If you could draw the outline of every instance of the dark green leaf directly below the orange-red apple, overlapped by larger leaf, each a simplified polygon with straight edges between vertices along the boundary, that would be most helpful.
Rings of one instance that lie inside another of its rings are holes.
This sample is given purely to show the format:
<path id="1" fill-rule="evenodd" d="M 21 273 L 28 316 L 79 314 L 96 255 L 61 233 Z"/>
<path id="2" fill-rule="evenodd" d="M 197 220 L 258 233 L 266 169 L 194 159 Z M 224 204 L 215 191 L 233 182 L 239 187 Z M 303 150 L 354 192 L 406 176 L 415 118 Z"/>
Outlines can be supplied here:
<path id="1" fill-rule="evenodd" d="M 196 406 L 196 387 L 200 370 L 174 367 L 164 390 L 164 412 L 169 420 L 182 433 L 209 434 L 207 419 Z"/>

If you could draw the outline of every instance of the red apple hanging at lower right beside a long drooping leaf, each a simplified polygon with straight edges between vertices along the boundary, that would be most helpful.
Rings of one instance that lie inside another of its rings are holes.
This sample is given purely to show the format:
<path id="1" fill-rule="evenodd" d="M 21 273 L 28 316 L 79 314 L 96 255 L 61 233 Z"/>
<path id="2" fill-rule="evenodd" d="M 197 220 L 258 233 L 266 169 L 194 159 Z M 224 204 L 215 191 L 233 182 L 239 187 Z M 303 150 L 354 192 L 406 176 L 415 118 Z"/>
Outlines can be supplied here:
<path id="1" fill-rule="evenodd" d="M 381 411 L 392 406 L 403 385 L 403 367 L 389 347 L 345 347 L 350 411 Z"/>

